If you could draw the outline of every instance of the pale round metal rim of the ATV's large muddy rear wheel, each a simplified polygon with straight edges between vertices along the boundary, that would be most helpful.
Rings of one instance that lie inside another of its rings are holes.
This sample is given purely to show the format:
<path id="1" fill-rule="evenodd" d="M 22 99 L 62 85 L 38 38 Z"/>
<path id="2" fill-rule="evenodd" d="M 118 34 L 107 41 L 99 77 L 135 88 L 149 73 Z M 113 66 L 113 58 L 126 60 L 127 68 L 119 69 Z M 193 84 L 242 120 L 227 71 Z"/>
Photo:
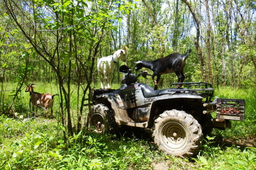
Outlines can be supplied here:
<path id="1" fill-rule="evenodd" d="M 172 149 L 181 148 L 187 140 L 186 130 L 176 122 L 166 123 L 161 134 L 163 143 Z"/>

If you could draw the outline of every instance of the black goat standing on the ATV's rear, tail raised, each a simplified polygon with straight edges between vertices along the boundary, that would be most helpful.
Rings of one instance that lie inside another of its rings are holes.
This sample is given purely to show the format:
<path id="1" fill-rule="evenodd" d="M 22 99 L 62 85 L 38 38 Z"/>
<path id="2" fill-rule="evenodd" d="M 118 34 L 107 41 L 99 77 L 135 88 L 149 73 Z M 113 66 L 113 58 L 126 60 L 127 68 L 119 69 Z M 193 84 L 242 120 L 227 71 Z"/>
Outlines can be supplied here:
<path id="1" fill-rule="evenodd" d="M 154 81 L 154 90 L 157 90 L 158 81 L 163 74 L 175 72 L 175 74 L 178 76 L 178 83 L 183 83 L 185 79 L 185 75 L 183 74 L 183 67 L 190 52 L 191 50 L 188 50 L 185 55 L 177 52 L 153 61 L 137 61 L 135 62 L 135 70 L 138 71 L 142 69 L 142 67 L 145 67 L 154 72 L 152 75 L 152 79 Z M 156 75 L 157 79 L 155 80 L 154 77 Z M 179 87 L 181 87 L 181 84 L 179 84 L 176 88 L 178 89 Z"/>

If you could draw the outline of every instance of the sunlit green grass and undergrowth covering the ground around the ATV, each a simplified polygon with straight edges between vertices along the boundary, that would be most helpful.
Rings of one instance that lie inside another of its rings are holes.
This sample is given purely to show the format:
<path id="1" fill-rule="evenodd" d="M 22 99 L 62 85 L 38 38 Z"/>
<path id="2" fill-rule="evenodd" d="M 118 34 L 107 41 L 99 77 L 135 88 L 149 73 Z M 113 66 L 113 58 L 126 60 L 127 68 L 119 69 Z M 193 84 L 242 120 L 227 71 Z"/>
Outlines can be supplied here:
<path id="1" fill-rule="evenodd" d="M 8 87 L 11 88 L 10 85 Z M 76 87 L 73 86 L 73 89 Z M 113 88 L 119 88 L 114 84 Z M 57 93 L 57 87 L 38 83 L 38 92 Z M 256 89 L 215 91 L 219 98 L 245 99 L 245 121 L 232 121 L 232 128 L 214 129 L 205 138 L 195 158 L 180 159 L 159 152 L 143 130 L 122 128 L 117 135 L 80 134 L 63 140 L 59 120 L 59 99 L 54 102 L 55 118 L 27 118 L 29 95 L 22 90 L 16 100 L 16 117 L 0 115 L 1 170 L 254 170 L 256 169 Z M 8 91 L 6 91 L 8 92 Z M 77 95 L 72 94 L 73 122 Z M 5 94 L 8 104 L 12 96 Z M 87 111 L 85 110 L 85 113 Z M 85 114 L 84 114 L 85 115 Z"/>

